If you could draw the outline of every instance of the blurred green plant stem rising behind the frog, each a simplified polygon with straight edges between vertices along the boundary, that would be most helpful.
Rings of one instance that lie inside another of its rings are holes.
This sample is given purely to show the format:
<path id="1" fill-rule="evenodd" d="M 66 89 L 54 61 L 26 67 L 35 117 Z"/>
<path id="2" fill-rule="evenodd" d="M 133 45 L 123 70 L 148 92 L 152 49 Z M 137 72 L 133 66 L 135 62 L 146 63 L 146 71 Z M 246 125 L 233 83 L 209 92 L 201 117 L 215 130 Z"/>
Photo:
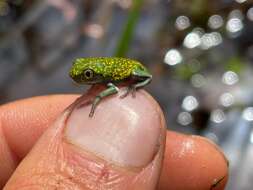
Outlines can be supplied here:
<path id="1" fill-rule="evenodd" d="M 133 0 L 133 7 L 129 12 L 127 23 L 123 29 L 122 35 L 116 48 L 115 56 L 117 57 L 124 57 L 128 51 L 129 43 L 132 39 L 142 4 L 143 0 Z"/>

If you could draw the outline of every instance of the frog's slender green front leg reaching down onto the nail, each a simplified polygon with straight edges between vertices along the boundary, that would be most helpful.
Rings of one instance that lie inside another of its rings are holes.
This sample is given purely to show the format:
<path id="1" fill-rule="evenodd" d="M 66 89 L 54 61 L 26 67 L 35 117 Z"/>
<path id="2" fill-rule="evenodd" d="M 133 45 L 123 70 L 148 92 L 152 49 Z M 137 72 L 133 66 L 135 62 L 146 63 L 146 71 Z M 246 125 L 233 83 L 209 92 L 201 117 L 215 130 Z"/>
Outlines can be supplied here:
<path id="1" fill-rule="evenodd" d="M 94 112 L 95 112 L 95 109 L 97 107 L 97 105 L 99 104 L 99 102 L 104 98 L 104 97 L 107 97 L 107 96 L 110 96 L 112 94 L 116 94 L 119 89 L 117 86 L 115 86 L 114 84 L 112 83 L 108 83 L 107 84 L 107 89 L 105 89 L 104 91 L 100 92 L 96 97 L 95 99 L 93 100 L 92 102 L 92 107 L 91 107 L 91 111 L 90 111 L 90 114 L 89 114 L 89 117 L 92 117 Z"/>

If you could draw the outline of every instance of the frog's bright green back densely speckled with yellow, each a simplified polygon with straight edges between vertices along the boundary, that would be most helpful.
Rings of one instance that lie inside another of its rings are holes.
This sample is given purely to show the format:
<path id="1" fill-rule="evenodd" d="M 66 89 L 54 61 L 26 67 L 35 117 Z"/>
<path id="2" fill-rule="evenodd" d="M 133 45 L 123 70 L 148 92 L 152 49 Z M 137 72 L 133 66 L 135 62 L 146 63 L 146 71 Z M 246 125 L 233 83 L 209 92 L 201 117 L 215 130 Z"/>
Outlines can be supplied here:
<path id="1" fill-rule="evenodd" d="M 93 63 L 93 67 L 98 74 L 103 75 L 105 78 L 111 78 L 113 81 L 129 78 L 135 69 L 140 68 L 146 70 L 146 68 L 138 61 L 127 58 L 97 57 L 85 59 L 86 62 L 89 62 L 90 64 Z"/>

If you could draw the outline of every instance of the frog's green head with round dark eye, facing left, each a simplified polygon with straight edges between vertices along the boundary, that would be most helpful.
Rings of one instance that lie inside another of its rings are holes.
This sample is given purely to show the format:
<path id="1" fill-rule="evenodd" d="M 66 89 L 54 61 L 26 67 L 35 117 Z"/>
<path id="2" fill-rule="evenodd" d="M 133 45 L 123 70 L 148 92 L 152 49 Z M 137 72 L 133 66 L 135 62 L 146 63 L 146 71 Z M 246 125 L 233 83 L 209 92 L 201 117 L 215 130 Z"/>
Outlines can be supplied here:
<path id="1" fill-rule="evenodd" d="M 80 84 L 103 83 L 105 77 L 103 73 L 103 60 L 98 58 L 78 58 L 73 62 L 70 69 L 70 77 Z"/>

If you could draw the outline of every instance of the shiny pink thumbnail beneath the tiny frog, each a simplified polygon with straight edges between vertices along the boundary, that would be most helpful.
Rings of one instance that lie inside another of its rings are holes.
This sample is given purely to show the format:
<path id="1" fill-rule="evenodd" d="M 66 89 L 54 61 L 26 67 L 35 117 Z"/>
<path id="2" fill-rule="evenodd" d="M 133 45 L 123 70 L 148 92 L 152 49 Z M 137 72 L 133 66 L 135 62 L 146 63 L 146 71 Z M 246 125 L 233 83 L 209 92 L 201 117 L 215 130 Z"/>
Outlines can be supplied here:
<path id="1" fill-rule="evenodd" d="M 116 165 L 147 165 L 158 151 L 162 127 L 158 105 L 147 96 L 102 100 L 92 118 L 90 105 L 77 106 L 66 123 L 67 141 Z"/>

